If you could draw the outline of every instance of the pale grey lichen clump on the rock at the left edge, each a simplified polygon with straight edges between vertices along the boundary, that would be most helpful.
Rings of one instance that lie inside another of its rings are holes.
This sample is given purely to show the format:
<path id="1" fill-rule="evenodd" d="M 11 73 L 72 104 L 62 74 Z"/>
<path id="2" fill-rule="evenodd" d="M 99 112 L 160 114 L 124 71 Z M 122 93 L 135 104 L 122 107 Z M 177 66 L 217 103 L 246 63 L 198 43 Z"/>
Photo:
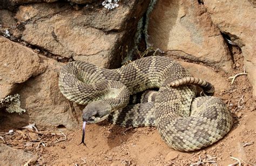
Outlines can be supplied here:
<path id="1" fill-rule="evenodd" d="M 25 109 L 21 108 L 21 101 L 19 100 L 19 94 L 9 95 L 6 98 L 0 100 L 0 108 L 6 107 L 8 113 L 22 114 L 26 112 Z"/>

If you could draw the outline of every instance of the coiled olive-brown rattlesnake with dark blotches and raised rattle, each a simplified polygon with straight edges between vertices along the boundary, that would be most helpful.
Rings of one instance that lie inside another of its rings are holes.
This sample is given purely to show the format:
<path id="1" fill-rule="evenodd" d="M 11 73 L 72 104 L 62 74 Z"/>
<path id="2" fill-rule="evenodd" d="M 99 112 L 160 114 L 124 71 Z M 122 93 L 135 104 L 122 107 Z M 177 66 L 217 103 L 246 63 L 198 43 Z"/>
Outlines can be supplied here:
<path id="1" fill-rule="evenodd" d="M 59 88 L 70 101 L 87 105 L 83 121 L 110 119 L 122 126 L 156 126 L 173 149 L 193 151 L 217 142 L 232 127 L 225 103 L 214 96 L 196 98 L 196 85 L 212 91 L 169 57 L 145 57 L 117 69 L 74 61 L 59 75 Z M 153 102 L 128 105 L 129 96 L 159 88 Z M 212 92 L 210 92 L 211 94 Z"/>

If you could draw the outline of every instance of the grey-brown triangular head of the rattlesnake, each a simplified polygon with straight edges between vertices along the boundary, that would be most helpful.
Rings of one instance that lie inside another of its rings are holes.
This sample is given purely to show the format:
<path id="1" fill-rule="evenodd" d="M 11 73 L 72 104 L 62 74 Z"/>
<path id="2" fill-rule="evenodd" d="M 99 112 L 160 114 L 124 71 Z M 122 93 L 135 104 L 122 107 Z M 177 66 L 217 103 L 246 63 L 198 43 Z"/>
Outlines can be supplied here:
<path id="1" fill-rule="evenodd" d="M 83 121 L 89 124 L 101 122 L 109 116 L 112 107 L 103 101 L 90 102 L 83 109 Z"/>

